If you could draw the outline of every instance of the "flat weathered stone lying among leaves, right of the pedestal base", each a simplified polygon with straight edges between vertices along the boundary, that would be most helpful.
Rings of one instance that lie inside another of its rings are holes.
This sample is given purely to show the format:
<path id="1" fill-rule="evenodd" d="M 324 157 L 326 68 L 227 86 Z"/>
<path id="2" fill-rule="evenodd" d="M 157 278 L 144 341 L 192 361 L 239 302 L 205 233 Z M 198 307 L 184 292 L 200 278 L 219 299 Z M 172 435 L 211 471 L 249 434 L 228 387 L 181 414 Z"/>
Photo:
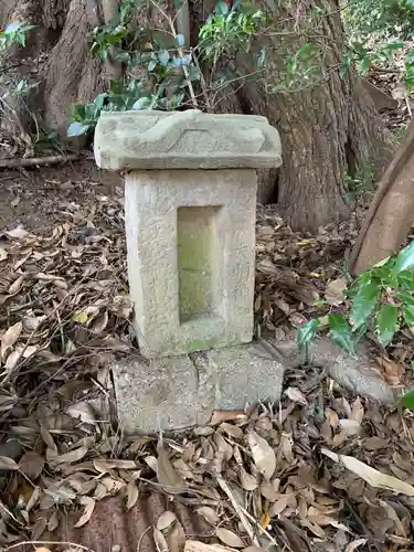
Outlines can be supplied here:
<path id="1" fill-rule="evenodd" d="M 287 367 L 297 368 L 305 363 L 305 353 L 298 351 L 295 340 L 272 341 L 272 344 L 280 355 L 280 362 Z M 395 404 L 396 393 L 371 368 L 363 350 L 358 357 L 350 357 L 331 341 L 318 339 L 309 346 L 309 361 L 316 367 L 325 368 L 332 380 L 357 395 L 388 405 Z"/>

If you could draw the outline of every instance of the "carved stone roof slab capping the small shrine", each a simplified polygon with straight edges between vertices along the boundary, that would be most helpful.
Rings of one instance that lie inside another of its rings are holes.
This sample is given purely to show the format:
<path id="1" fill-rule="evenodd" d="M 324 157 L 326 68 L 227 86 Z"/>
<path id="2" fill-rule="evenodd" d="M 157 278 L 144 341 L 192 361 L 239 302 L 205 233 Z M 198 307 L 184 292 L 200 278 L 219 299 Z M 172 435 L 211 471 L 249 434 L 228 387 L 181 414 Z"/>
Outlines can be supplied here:
<path id="1" fill-rule="evenodd" d="M 187 112 L 103 113 L 95 129 L 102 169 L 230 169 L 282 164 L 280 139 L 265 117 Z"/>

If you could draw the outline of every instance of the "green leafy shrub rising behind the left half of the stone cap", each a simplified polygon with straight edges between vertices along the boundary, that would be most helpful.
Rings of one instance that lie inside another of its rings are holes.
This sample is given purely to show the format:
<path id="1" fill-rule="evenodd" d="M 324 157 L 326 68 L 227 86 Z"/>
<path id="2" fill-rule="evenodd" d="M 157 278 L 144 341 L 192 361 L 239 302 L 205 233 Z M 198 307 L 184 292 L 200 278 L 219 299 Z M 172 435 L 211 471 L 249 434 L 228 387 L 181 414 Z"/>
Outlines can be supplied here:
<path id="1" fill-rule="evenodd" d="M 184 38 L 163 29 L 141 29 L 132 24 L 135 12 L 146 2 L 120 3 L 118 19 L 97 26 L 92 51 L 105 62 L 121 64 L 125 76 L 112 81 L 109 89 L 89 104 L 74 104 L 67 129 L 70 137 L 92 132 L 102 112 L 128 109 L 174 110 L 188 99 L 187 89 L 200 79 L 200 72 Z M 169 15 L 159 8 L 169 20 Z M 169 20 L 173 29 L 173 22 Z M 142 75 L 138 78 L 135 75 Z M 192 96 L 193 97 L 193 96 Z"/>

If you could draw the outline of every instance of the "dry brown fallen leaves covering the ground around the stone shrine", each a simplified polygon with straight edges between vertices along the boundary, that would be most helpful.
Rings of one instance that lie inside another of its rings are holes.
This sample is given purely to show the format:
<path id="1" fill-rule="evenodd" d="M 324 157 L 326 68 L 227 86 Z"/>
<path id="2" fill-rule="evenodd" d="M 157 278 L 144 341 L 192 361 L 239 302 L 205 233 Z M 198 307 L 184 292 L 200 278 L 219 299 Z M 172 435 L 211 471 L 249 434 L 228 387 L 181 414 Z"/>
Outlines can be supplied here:
<path id="1" fill-rule="evenodd" d="M 2 550 L 89 550 L 52 544 L 62 518 L 87 529 L 99 501 L 120 496 L 128 511 L 148 490 L 211 528 L 194 539 L 167 508 L 148 529 L 158 552 L 414 550 L 411 413 L 350 396 L 311 367 L 287 371 L 277 407 L 216 412 L 174 438 L 123 435 L 100 406 L 109 362 L 134 350 L 123 200 L 87 180 L 53 190 L 53 225 L 25 227 L 22 212 L 0 237 Z M 283 340 L 342 308 L 354 223 L 300 235 L 259 208 L 257 333 Z M 410 336 L 400 341 L 386 358 L 376 350 L 393 385 L 411 380 Z"/>

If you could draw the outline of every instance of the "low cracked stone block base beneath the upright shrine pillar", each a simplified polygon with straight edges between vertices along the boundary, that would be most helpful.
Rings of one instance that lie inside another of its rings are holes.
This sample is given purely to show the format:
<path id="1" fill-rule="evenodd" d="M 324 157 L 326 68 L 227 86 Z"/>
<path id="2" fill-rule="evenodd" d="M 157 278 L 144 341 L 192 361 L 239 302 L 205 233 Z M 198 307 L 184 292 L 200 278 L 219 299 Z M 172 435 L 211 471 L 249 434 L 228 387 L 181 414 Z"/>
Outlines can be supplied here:
<path id="1" fill-rule="evenodd" d="M 127 433 L 204 425 L 215 410 L 277 402 L 284 365 L 264 342 L 113 365 L 118 418 Z"/>

